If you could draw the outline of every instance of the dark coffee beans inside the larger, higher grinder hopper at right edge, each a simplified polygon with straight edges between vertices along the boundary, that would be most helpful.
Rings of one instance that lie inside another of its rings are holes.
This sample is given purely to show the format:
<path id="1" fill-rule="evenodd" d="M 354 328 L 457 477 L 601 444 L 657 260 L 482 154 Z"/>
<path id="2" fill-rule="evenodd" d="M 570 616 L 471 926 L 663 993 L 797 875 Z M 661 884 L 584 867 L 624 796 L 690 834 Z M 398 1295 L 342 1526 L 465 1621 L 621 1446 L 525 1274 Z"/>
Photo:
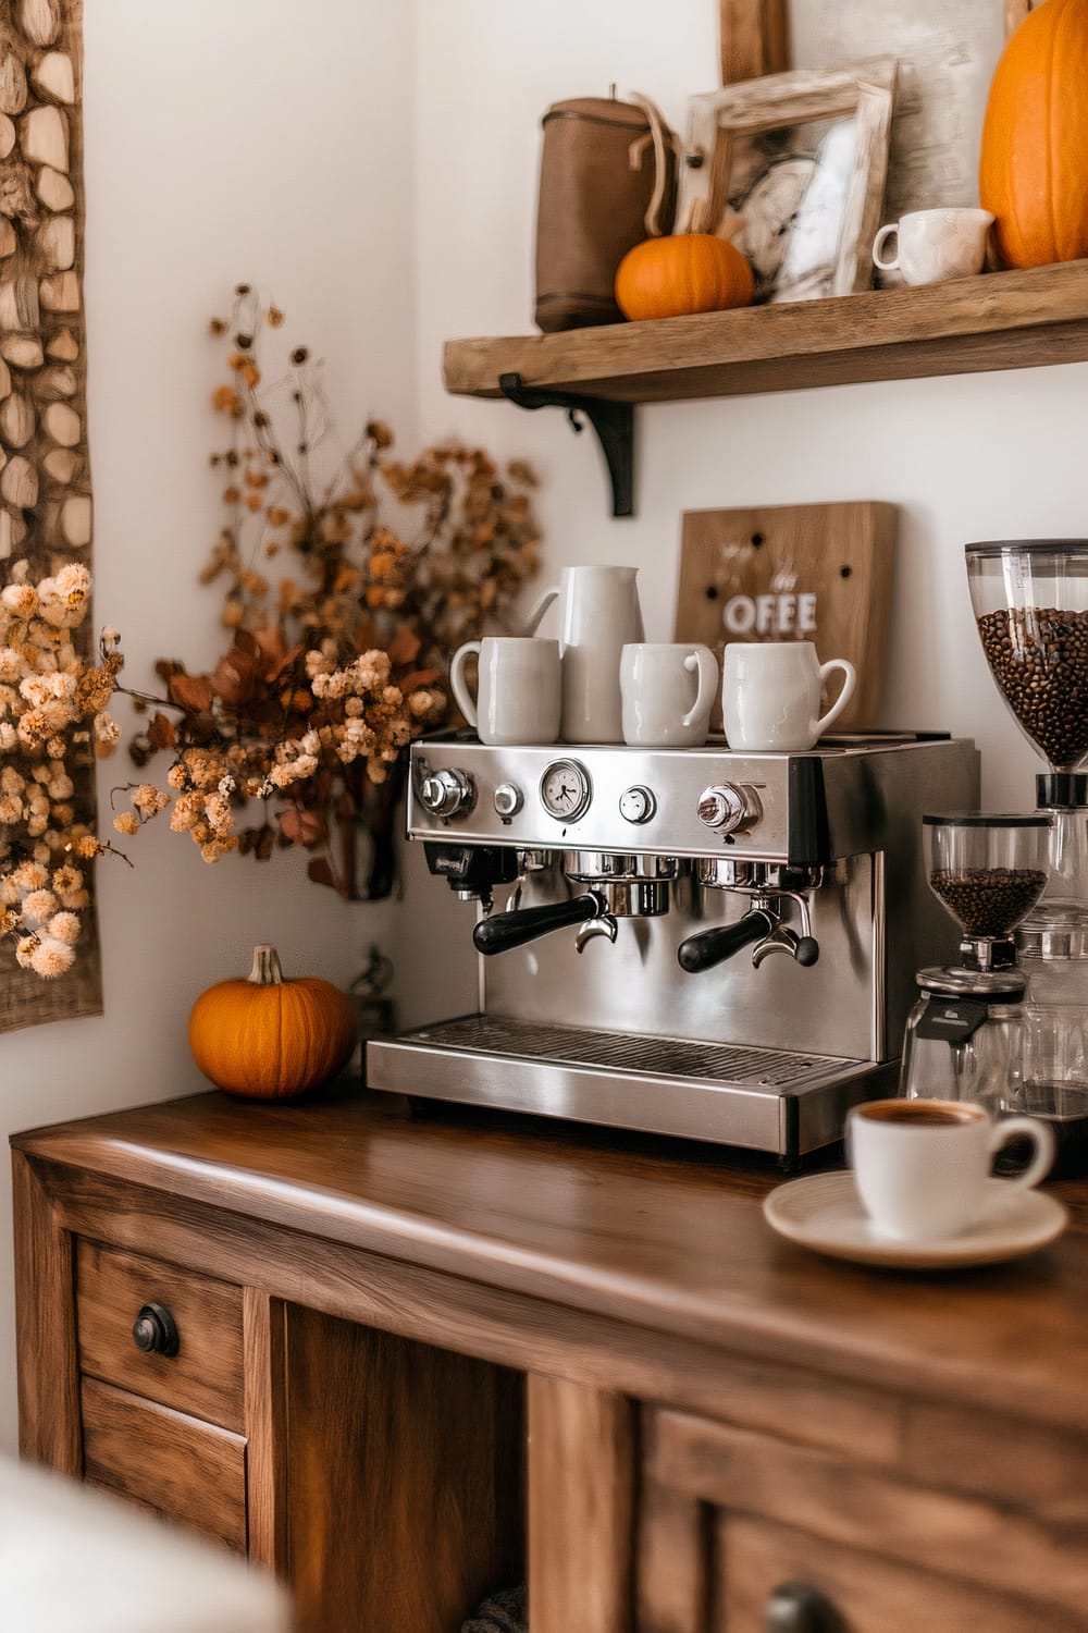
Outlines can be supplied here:
<path id="1" fill-rule="evenodd" d="M 998 607 L 977 622 L 1008 707 L 1055 769 L 1073 771 L 1088 754 L 1088 612 Z"/>

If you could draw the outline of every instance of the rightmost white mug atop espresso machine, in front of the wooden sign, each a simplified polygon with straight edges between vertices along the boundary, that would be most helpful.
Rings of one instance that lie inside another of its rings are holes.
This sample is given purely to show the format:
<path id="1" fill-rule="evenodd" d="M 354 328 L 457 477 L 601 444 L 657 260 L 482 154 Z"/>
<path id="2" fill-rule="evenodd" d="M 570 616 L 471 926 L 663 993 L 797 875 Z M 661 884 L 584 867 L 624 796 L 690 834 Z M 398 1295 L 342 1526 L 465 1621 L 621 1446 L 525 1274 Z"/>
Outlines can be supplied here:
<path id="1" fill-rule="evenodd" d="M 820 714 L 824 681 L 835 670 L 843 686 Z M 820 663 L 811 640 L 732 640 L 721 663 L 721 719 L 729 748 L 799 753 L 838 719 L 858 683 L 853 663 Z"/>

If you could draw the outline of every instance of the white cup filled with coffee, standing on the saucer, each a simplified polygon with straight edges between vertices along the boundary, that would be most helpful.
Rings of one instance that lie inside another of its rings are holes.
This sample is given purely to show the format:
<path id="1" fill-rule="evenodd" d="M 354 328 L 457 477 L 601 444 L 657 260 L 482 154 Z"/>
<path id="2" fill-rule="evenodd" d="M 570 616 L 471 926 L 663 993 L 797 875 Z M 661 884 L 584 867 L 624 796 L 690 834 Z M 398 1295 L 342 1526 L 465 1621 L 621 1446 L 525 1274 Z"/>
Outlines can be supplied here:
<path id="1" fill-rule="evenodd" d="M 1028 1138 L 1028 1168 L 988 1186 L 993 1156 Z M 868 1101 L 847 1119 L 847 1150 L 861 1207 L 881 1236 L 896 1241 L 944 1241 L 959 1236 L 982 1210 L 1006 1207 L 1046 1179 L 1054 1135 L 1034 1117 L 992 1122 L 972 1101 Z"/>

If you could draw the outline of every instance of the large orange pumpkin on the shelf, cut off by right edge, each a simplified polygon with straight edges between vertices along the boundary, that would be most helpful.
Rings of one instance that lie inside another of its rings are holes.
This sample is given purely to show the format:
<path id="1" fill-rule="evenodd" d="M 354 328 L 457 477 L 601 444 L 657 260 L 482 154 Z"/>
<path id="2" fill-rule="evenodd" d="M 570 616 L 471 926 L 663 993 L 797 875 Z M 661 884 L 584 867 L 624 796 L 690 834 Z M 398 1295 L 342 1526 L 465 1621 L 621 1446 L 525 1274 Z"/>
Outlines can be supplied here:
<path id="1" fill-rule="evenodd" d="M 1006 266 L 1088 255 L 1088 0 L 1046 0 L 997 65 L 979 199 Z"/>

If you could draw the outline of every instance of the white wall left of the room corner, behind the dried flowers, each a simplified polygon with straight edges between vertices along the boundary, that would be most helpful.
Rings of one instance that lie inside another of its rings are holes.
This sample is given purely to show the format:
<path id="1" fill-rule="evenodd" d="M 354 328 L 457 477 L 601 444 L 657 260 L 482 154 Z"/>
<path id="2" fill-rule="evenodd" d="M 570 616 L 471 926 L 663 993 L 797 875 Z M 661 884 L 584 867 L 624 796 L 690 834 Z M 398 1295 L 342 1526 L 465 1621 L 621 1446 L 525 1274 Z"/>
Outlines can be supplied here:
<path id="1" fill-rule="evenodd" d="M 210 660 L 219 596 L 197 568 L 219 505 L 207 320 L 240 279 L 325 356 L 346 438 L 382 412 L 414 446 L 413 15 L 385 0 L 88 0 L 86 318 L 96 616 L 130 684 L 157 656 Z M 378 162 L 380 155 L 380 162 Z M 127 705 L 117 710 L 127 723 Z M 100 799 L 129 779 L 108 763 Z M 395 906 L 341 903 L 303 859 L 207 867 L 147 830 L 100 867 L 106 1012 L 0 1037 L 0 1127 L 207 1088 L 186 1019 L 274 941 L 287 973 L 349 981 Z M 10 1194 L 0 1163 L 0 1445 L 15 1444 Z"/>

